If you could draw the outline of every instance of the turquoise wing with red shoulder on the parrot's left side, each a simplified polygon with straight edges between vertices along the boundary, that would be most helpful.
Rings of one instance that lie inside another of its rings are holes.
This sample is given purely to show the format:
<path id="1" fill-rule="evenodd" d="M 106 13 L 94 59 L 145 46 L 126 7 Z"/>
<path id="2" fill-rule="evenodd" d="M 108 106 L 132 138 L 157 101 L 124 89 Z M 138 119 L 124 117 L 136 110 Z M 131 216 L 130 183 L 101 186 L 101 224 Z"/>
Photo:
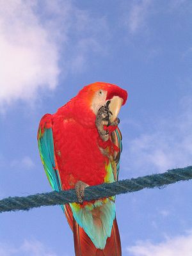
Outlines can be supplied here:
<path id="1" fill-rule="evenodd" d="M 44 165 L 47 179 L 53 190 L 60 191 L 62 189 L 60 173 L 54 155 L 54 143 L 52 138 L 52 116 L 46 114 L 40 120 L 38 127 L 38 149 L 42 164 Z"/>

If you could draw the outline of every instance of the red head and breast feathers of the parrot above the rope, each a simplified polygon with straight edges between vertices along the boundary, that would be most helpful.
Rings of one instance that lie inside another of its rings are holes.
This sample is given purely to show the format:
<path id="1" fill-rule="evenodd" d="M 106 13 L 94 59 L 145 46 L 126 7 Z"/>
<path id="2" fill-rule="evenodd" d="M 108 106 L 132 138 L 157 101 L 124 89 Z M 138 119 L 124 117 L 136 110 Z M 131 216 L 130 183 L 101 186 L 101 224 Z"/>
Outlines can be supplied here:
<path id="1" fill-rule="evenodd" d="M 90 186 L 104 182 L 108 157 L 98 147 L 99 134 L 90 104 L 99 88 L 107 90 L 109 99 L 119 95 L 125 103 L 127 92 L 115 84 L 111 85 L 94 83 L 85 86 L 76 97 L 52 115 L 54 148 L 63 189 L 74 188 L 78 180 Z"/>

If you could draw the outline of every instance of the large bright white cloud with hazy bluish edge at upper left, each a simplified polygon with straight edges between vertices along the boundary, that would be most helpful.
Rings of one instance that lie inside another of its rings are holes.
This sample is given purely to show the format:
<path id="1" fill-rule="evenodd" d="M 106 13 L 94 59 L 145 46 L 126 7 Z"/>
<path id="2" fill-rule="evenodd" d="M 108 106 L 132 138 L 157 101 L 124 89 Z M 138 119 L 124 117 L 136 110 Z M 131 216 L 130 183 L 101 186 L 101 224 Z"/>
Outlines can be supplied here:
<path id="1" fill-rule="evenodd" d="M 90 52 L 103 51 L 105 19 L 92 18 L 72 1 L 0 0 L 0 5 L 3 110 L 15 100 L 33 102 L 42 90 L 54 90 L 61 72 L 64 77 L 81 72 Z"/>

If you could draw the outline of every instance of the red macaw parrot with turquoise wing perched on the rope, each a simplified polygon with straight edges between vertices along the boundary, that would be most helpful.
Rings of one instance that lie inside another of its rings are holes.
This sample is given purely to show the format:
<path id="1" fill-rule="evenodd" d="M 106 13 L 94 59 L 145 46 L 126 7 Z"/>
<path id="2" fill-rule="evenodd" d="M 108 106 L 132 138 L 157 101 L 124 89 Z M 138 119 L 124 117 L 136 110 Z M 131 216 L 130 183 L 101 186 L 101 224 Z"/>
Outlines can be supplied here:
<path id="1" fill-rule="evenodd" d="M 122 255 L 115 196 L 86 202 L 88 186 L 118 180 L 122 134 L 118 113 L 127 91 L 116 84 L 84 86 L 38 127 L 38 149 L 55 191 L 75 189 L 77 202 L 61 205 L 74 236 L 76 256 Z"/>

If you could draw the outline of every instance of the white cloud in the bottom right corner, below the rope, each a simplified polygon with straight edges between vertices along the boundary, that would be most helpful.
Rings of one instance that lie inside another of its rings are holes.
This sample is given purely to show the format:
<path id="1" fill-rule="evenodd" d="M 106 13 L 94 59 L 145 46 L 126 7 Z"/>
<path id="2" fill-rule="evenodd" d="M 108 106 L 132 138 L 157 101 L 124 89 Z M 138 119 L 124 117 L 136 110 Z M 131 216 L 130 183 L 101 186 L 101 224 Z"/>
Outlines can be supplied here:
<path id="1" fill-rule="evenodd" d="M 150 241 L 140 241 L 127 247 L 132 256 L 191 256 L 192 233 L 186 236 L 167 238 L 166 241 L 154 244 Z"/>

